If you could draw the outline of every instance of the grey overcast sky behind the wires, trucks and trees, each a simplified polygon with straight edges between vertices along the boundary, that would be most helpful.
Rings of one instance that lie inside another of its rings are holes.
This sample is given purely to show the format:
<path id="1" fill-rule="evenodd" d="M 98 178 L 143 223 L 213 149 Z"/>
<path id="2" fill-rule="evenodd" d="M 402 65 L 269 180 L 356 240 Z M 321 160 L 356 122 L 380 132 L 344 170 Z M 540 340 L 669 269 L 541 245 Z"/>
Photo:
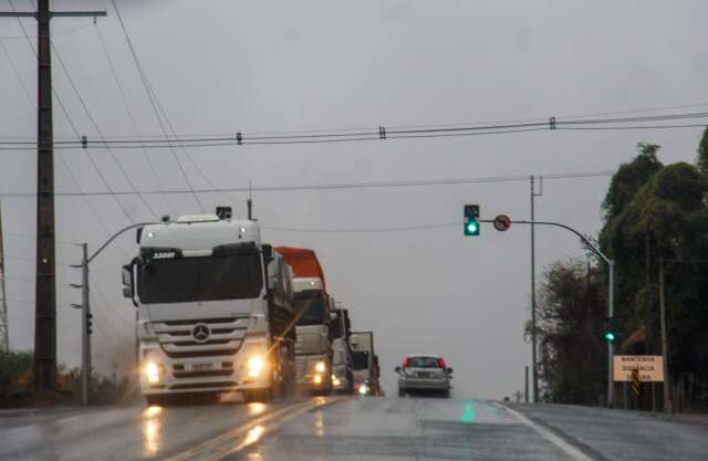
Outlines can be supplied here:
<path id="1" fill-rule="evenodd" d="M 30 2 L 15 0 L 18 8 Z M 54 9 L 108 8 L 104 1 L 53 1 Z M 704 1 L 228 1 L 119 0 L 150 84 L 178 134 L 375 128 L 379 125 L 559 118 L 708 102 L 708 3 Z M 1 9 L 10 9 L 0 0 Z M 34 20 L 23 20 L 31 35 Z M 134 136 L 98 32 L 140 135 L 160 128 L 115 12 L 97 20 L 58 18 L 54 45 L 105 136 Z M 0 136 L 35 136 L 34 55 L 18 21 L 0 19 Z M 96 135 L 54 55 L 54 88 L 81 134 Z M 31 99 L 31 102 L 29 101 Z M 705 108 L 704 108 L 705 109 Z M 684 109 L 686 111 L 697 111 Z M 73 136 L 54 101 L 56 137 Z M 289 146 L 190 148 L 205 179 L 178 150 L 195 188 L 319 185 L 614 170 L 637 142 L 660 144 L 665 163 L 693 161 L 699 128 L 648 132 L 539 132 L 498 136 Z M 115 150 L 138 189 L 184 189 L 168 149 Z M 114 190 L 129 190 L 102 149 L 91 155 Z M 150 171 L 150 156 L 156 175 Z M 104 191 L 86 151 L 58 150 L 56 190 Z M 70 175 L 71 172 L 71 175 Z M 156 177 L 157 176 L 157 177 Z M 208 182 L 207 182 L 208 180 Z M 544 181 L 537 218 L 584 232 L 602 226 L 610 177 Z M 210 184 L 209 184 L 210 182 Z M 0 192 L 32 191 L 33 151 L 0 153 Z M 200 195 L 209 209 L 243 193 Z M 154 216 L 121 199 L 131 220 Z M 189 195 L 145 196 L 158 213 L 199 212 Z M 355 190 L 260 191 L 266 227 L 375 229 L 461 222 L 464 203 L 482 217 L 529 218 L 529 182 Z M 33 345 L 35 200 L 2 201 L 10 343 Z M 58 260 L 74 263 L 108 231 L 128 224 L 111 197 L 56 199 Z M 456 369 L 458 395 L 499 398 L 523 388 L 530 345 L 530 233 L 459 227 L 379 233 L 266 230 L 273 244 L 314 249 L 332 294 L 355 329 L 373 329 L 385 385 L 406 353 L 436 353 Z M 539 229 L 538 268 L 582 256 L 576 239 Z M 136 252 L 127 234 L 92 266 L 94 359 L 104 371 L 129 364 L 134 310 L 121 297 L 119 268 Z M 76 270 L 58 266 L 60 360 L 80 360 Z M 617 306 L 618 310 L 622 306 Z"/>

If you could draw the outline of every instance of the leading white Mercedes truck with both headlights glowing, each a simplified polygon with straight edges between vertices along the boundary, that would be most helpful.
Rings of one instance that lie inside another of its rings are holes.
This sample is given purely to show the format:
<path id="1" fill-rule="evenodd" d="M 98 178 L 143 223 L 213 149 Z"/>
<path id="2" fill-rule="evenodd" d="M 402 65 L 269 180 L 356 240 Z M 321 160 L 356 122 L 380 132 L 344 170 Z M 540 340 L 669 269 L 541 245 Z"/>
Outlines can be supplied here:
<path id="1" fill-rule="evenodd" d="M 256 221 L 181 217 L 138 229 L 123 268 L 137 307 L 140 388 L 149 405 L 242 392 L 267 401 L 294 388 L 291 271 Z"/>

